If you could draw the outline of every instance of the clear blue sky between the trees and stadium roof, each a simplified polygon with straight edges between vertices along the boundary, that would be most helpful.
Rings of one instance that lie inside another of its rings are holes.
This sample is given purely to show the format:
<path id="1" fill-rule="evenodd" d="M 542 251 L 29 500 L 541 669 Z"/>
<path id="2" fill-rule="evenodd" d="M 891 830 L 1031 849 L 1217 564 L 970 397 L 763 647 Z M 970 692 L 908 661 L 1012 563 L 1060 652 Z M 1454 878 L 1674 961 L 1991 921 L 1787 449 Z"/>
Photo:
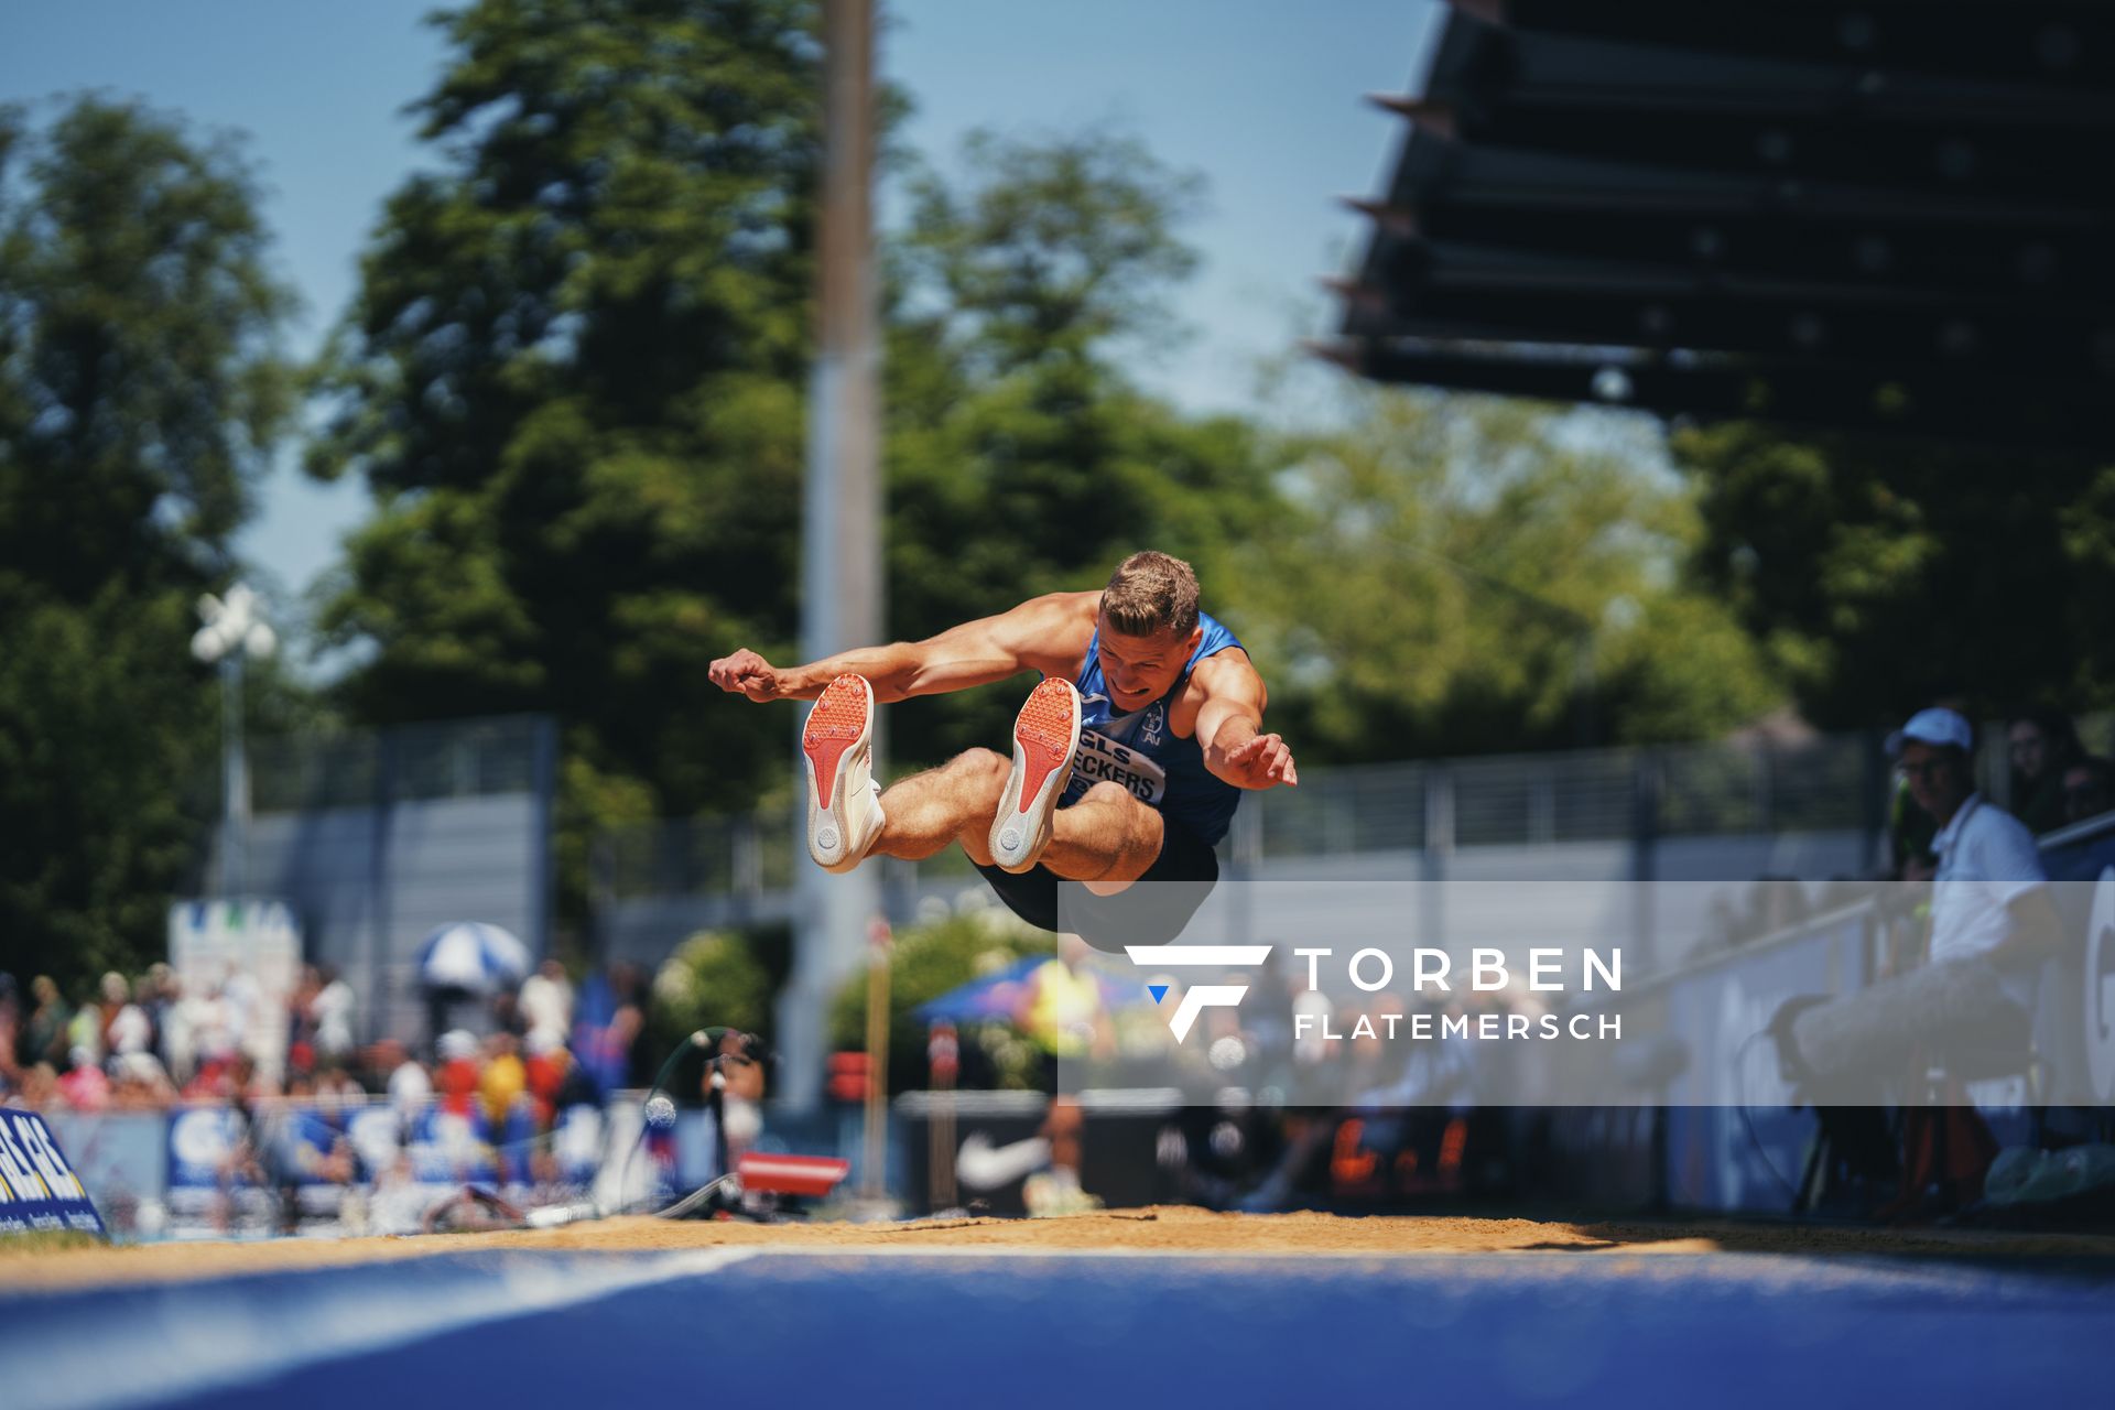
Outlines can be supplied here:
<path id="1" fill-rule="evenodd" d="M 444 61 L 434 0 L 0 0 L 0 101 L 137 95 L 250 133 L 309 353 L 345 309 L 383 197 L 431 161 L 400 116 Z M 1106 125 L 1203 173 L 1187 230 L 1203 268 L 1176 309 L 1195 338 L 1134 372 L 1195 410 L 1239 408 L 1261 357 L 1326 326 L 1316 287 L 1354 254 L 1343 194 L 1379 190 L 1434 0 L 895 0 L 880 66 L 907 89 L 907 142 L 943 171 L 977 127 L 1032 137 Z M 243 554 L 300 592 L 366 509 L 360 484 L 281 465 Z M 292 609 L 292 602 L 283 605 Z"/>

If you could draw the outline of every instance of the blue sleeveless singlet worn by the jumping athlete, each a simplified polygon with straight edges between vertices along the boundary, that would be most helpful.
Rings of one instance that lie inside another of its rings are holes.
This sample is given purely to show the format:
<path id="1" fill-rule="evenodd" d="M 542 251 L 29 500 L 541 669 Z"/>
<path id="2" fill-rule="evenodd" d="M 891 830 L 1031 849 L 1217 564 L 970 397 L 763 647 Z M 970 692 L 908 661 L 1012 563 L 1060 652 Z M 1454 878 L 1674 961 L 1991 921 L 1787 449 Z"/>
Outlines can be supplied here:
<path id="1" fill-rule="evenodd" d="M 1072 782 L 1066 784 L 1060 808 L 1081 801 L 1098 782 L 1117 782 L 1134 797 L 1174 818 L 1206 846 L 1218 846 L 1242 803 L 1242 791 L 1203 767 L 1203 746 L 1197 736 L 1178 740 L 1167 727 L 1176 695 L 1189 685 L 1197 662 L 1239 647 L 1233 632 L 1199 613 L 1203 636 L 1174 687 L 1132 715 L 1110 715 L 1108 683 L 1102 679 L 1102 632 L 1087 643 L 1087 664 L 1079 672 L 1079 753 L 1072 757 Z"/>

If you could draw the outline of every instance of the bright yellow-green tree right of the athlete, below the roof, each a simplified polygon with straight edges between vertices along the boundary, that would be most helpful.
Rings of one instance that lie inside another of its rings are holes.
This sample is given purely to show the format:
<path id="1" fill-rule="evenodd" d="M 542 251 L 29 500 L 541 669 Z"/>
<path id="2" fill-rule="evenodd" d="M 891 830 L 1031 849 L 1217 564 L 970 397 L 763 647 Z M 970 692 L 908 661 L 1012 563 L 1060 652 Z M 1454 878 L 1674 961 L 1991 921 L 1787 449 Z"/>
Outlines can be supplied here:
<path id="1" fill-rule="evenodd" d="M 1351 387 L 1288 438 L 1244 577 L 1305 759 L 1709 738 L 1777 700 L 1686 577 L 1688 490 L 1635 421 Z"/>

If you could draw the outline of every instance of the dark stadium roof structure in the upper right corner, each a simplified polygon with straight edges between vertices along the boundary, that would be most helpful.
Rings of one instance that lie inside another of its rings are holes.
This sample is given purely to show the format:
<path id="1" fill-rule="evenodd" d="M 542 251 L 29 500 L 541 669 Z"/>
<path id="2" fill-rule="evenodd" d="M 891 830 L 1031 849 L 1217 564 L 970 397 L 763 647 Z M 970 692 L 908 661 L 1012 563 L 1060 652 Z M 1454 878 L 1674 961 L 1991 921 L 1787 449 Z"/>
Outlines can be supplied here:
<path id="1" fill-rule="evenodd" d="M 2115 450 L 2115 6 L 1453 0 L 1364 376 Z"/>

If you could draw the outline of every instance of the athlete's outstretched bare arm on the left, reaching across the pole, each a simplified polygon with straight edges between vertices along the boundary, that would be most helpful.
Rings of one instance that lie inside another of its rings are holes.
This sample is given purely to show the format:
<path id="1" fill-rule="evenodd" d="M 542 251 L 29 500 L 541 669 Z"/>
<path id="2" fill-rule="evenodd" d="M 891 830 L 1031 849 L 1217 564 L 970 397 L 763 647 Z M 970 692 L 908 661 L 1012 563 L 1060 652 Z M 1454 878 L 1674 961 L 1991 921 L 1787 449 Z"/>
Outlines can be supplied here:
<path id="1" fill-rule="evenodd" d="M 850 672 L 867 676 L 882 704 L 990 685 L 1022 670 L 1070 676 L 1093 634 L 1098 596 L 1051 592 L 939 636 L 859 647 L 806 666 L 772 666 L 744 649 L 713 662 L 711 676 L 719 689 L 751 700 L 814 700 L 825 685 Z"/>

